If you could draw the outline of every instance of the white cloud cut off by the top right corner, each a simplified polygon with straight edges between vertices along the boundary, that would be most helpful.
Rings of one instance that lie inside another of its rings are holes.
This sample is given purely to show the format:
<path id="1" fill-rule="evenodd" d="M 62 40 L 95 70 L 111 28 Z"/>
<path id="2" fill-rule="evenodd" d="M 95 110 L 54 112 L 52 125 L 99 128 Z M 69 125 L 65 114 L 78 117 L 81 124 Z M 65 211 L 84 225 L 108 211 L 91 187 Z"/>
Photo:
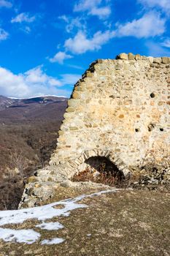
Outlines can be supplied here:
<path id="1" fill-rule="evenodd" d="M 138 0 L 145 7 L 160 7 L 163 11 L 170 13 L 169 0 Z"/>

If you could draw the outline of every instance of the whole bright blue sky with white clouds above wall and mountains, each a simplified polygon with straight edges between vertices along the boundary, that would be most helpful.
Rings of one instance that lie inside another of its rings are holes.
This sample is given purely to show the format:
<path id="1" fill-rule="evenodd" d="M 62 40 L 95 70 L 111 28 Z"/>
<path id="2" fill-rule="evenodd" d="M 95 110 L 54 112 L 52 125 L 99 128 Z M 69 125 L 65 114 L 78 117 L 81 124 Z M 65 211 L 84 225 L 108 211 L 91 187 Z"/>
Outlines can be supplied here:
<path id="1" fill-rule="evenodd" d="M 170 56 L 170 0 L 0 0 L 0 94 L 65 95 L 96 59 Z"/>

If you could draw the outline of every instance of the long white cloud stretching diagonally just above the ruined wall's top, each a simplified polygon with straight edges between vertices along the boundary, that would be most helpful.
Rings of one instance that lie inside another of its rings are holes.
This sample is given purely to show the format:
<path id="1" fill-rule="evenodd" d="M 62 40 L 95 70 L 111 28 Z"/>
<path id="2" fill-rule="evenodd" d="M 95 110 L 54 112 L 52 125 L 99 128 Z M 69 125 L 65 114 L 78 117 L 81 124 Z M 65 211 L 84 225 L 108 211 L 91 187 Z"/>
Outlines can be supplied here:
<path id="1" fill-rule="evenodd" d="M 92 37 L 88 37 L 85 31 L 80 30 L 74 37 L 66 39 L 64 47 L 71 53 L 81 54 L 101 49 L 102 45 L 109 42 L 113 37 L 149 38 L 160 36 L 165 31 L 166 19 L 161 18 L 159 12 L 151 11 L 145 13 L 142 18 L 123 24 L 117 23 L 115 31 L 97 31 Z"/>

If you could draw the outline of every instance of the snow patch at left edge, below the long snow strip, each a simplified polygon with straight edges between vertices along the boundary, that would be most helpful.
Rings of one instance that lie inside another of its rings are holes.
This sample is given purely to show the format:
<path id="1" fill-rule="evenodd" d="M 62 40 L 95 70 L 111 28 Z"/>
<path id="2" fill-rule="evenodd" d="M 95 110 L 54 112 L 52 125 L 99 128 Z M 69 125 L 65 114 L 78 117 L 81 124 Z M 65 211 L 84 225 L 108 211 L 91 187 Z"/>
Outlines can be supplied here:
<path id="1" fill-rule="evenodd" d="M 0 239 L 3 239 L 5 242 L 33 244 L 40 236 L 41 235 L 34 230 L 12 230 L 0 227 Z"/>

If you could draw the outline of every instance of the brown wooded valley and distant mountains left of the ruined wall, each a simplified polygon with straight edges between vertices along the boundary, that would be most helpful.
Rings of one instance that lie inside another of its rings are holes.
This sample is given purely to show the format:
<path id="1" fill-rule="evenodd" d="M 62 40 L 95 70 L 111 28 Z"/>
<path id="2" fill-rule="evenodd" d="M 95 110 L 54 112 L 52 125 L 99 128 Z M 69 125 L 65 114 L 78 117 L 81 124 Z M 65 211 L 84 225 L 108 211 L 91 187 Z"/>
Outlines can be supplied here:
<path id="1" fill-rule="evenodd" d="M 50 160 L 67 99 L 0 96 L 0 210 L 18 208 L 28 176 Z"/>

